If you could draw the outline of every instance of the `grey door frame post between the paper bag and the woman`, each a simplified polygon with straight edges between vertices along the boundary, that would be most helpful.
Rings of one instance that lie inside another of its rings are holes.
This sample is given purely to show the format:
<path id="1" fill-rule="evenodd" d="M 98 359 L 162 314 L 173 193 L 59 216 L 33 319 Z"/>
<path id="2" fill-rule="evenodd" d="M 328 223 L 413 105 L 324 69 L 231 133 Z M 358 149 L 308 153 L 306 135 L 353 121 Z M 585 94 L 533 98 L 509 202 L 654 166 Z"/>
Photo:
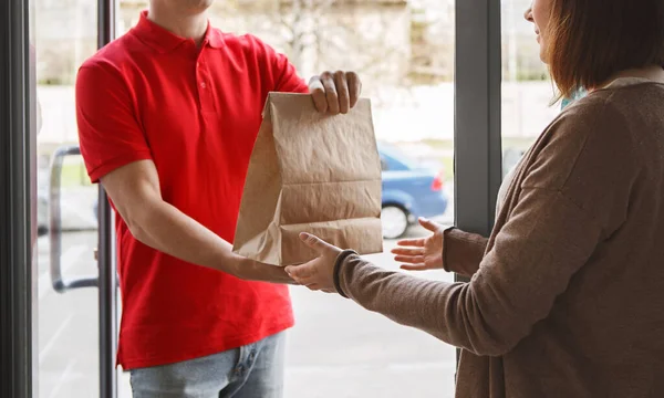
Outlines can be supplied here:
<path id="1" fill-rule="evenodd" d="M 488 237 L 502 182 L 500 1 L 455 6 L 455 226 Z M 469 280 L 455 274 L 455 281 Z M 460 350 L 457 349 L 457 367 Z"/>

